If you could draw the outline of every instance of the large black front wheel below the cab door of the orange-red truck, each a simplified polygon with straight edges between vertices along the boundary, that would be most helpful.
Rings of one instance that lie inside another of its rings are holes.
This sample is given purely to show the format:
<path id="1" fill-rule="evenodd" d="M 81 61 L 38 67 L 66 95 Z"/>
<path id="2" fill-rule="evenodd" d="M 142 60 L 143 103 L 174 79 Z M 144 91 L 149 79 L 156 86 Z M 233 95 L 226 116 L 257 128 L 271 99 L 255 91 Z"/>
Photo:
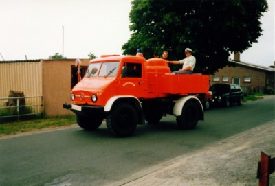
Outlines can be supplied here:
<path id="1" fill-rule="evenodd" d="M 131 104 L 118 104 L 107 115 L 106 123 L 115 137 L 129 137 L 137 127 L 137 112 Z"/>

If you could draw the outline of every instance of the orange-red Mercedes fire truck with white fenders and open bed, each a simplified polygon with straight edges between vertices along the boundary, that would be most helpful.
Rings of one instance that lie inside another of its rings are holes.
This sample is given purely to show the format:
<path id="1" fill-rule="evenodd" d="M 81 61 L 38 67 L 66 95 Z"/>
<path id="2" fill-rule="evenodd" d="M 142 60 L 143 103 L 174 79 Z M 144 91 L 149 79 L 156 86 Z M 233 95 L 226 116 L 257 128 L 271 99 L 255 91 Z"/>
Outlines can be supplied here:
<path id="1" fill-rule="evenodd" d="M 100 56 L 91 60 L 63 108 L 76 114 L 84 130 L 96 130 L 106 119 L 116 137 L 128 137 L 137 124 L 156 124 L 167 114 L 175 115 L 180 129 L 193 129 L 204 119 L 197 95 L 203 97 L 208 88 L 208 75 L 171 73 L 161 58 Z"/>

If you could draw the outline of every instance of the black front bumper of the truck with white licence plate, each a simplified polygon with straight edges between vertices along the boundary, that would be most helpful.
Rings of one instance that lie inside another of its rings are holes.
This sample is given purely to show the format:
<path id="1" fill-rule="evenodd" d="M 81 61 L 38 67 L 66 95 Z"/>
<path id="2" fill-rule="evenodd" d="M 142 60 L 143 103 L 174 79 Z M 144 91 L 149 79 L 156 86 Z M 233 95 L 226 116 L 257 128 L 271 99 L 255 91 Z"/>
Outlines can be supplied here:
<path id="1" fill-rule="evenodd" d="M 69 109 L 74 112 L 76 115 L 95 115 L 104 113 L 103 106 L 87 106 L 87 105 L 75 105 L 75 104 L 63 104 L 63 108 Z"/>

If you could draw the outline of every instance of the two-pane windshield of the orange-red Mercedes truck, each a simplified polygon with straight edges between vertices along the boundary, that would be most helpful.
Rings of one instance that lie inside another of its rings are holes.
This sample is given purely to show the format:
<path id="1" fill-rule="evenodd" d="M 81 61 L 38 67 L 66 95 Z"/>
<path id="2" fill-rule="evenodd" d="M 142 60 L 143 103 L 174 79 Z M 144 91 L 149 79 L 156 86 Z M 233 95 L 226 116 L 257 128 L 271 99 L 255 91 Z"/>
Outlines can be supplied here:
<path id="1" fill-rule="evenodd" d="M 85 77 L 114 77 L 118 72 L 120 62 L 98 62 L 91 63 Z"/>

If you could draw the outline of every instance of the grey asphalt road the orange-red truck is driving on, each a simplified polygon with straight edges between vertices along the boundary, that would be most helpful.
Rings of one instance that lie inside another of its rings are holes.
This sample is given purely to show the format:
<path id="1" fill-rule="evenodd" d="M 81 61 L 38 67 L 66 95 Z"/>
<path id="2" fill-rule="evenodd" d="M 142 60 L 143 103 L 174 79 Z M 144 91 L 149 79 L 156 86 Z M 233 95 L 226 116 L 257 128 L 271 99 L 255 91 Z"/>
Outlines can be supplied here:
<path id="1" fill-rule="evenodd" d="M 274 120 L 274 100 L 213 108 L 195 130 L 175 117 L 114 138 L 105 125 L 0 139 L 0 185 L 105 185 Z"/>

